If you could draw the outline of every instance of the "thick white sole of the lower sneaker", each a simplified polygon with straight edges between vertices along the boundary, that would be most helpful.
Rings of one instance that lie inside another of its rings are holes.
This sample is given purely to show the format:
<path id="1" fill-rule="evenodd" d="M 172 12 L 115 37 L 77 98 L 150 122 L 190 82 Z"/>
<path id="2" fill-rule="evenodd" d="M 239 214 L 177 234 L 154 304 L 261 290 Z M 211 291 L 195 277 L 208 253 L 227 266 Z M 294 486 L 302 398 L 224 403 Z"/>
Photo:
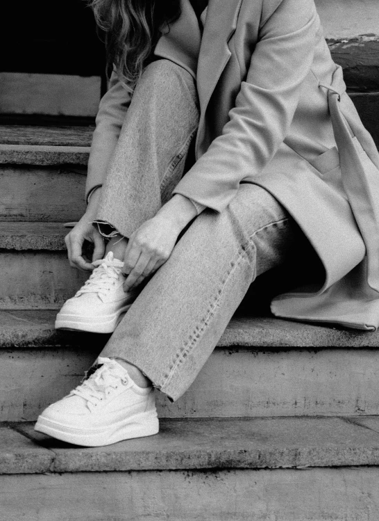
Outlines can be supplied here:
<path id="1" fill-rule="evenodd" d="M 75 445 L 101 447 L 122 440 L 157 434 L 159 432 L 159 420 L 156 411 L 149 410 L 103 428 L 81 428 L 79 430 L 44 417 L 42 413 L 35 424 L 35 431 Z"/>

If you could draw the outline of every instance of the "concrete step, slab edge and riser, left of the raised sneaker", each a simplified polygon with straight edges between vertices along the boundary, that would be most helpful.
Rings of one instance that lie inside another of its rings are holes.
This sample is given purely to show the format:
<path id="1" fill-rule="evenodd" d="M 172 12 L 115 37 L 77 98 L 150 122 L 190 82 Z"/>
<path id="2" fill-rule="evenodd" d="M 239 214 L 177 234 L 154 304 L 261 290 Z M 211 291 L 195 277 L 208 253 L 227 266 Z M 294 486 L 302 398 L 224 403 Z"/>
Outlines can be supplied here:
<path id="1" fill-rule="evenodd" d="M 0 223 L 0 308 L 56 308 L 88 277 L 69 266 L 63 223 Z"/>

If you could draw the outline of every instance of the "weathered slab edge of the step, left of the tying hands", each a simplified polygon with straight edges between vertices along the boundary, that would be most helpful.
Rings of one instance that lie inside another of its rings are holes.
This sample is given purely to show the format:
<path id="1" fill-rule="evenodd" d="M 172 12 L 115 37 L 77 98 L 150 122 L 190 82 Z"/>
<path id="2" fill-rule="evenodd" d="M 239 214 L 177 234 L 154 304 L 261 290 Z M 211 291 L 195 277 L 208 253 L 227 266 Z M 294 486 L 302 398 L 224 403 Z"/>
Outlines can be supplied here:
<path id="1" fill-rule="evenodd" d="M 1 223 L 0 250 L 66 250 L 63 223 Z"/>

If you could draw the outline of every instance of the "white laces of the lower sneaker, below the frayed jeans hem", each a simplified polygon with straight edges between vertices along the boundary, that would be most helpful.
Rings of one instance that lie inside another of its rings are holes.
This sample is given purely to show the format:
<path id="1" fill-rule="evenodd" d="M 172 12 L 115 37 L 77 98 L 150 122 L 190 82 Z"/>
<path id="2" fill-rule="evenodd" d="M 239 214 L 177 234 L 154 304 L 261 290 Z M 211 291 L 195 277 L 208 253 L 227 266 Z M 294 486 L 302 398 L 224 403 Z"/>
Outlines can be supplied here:
<path id="1" fill-rule="evenodd" d="M 92 403 L 93 406 L 97 406 L 99 400 L 103 400 L 110 394 L 110 389 L 117 389 L 120 382 L 123 385 L 128 384 L 127 377 L 121 378 L 112 373 L 112 367 L 114 366 L 109 364 L 102 365 L 99 369 L 96 369 L 90 378 L 71 391 L 71 394 L 76 394 L 76 396 Z"/>

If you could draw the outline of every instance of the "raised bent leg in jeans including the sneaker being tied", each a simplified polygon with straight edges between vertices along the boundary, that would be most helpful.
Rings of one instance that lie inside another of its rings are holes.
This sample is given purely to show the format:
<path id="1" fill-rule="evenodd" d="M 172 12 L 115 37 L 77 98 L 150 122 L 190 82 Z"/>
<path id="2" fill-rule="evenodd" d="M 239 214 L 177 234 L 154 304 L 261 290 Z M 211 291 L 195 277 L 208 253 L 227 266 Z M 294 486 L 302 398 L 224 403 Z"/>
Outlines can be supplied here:
<path id="1" fill-rule="evenodd" d="M 103 223 L 101 231 L 117 237 L 108 243 L 106 258 L 85 287 L 62 307 L 56 328 L 92 332 L 115 329 L 135 294 L 122 290 L 123 275 L 115 259 L 124 259 L 125 237 L 171 197 L 183 175 L 198 120 L 196 85 L 189 72 L 168 60 L 146 67 L 126 113 L 96 215 L 96 221 Z"/>

